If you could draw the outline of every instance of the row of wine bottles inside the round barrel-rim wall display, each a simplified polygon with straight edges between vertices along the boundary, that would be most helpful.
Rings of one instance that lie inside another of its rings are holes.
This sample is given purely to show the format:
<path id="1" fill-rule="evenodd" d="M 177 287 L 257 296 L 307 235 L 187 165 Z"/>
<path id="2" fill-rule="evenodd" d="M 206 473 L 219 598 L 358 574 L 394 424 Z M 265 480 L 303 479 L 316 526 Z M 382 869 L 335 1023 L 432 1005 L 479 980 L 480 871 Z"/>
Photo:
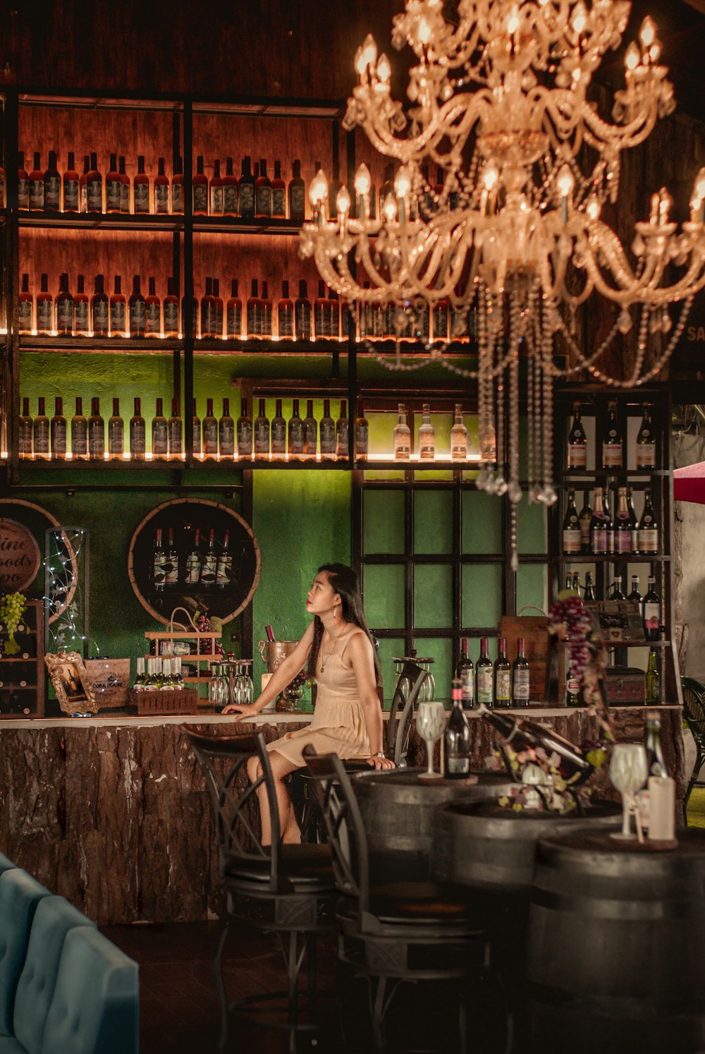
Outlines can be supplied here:
<path id="1" fill-rule="evenodd" d="M 230 531 L 226 531 L 222 543 L 216 544 L 215 528 L 212 527 L 208 547 L 201 549 L 201 531 L 197 527 L 188 552 L 183 546 L 177 548 L 173 527 L 169 528 L 167 546 L 163 545 L 162 534 L 162 528 L 157 527 L 152 559 L 152 584 L 155 590 L 161 591 L 179 583 L 219 589 L 231 584 L 233 554 L 230 551 Z"/>

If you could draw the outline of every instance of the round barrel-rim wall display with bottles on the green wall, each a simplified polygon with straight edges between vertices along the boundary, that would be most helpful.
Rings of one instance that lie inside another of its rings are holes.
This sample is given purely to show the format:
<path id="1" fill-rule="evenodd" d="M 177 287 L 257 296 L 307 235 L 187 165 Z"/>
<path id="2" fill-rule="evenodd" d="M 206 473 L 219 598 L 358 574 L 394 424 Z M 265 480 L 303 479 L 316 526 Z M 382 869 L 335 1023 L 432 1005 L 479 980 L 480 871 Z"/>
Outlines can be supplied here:
<path id="1" fill-rule="evenodd" d="M 161 550 L 156 550 L 158 532 Z M 230 622 L 252 600 L 259 569 L 252 528 L 226 505 L 197 497 L 153 509 L 136 528 L 128 557 L 135 596 L 164 624 L 176 607 Z"/>

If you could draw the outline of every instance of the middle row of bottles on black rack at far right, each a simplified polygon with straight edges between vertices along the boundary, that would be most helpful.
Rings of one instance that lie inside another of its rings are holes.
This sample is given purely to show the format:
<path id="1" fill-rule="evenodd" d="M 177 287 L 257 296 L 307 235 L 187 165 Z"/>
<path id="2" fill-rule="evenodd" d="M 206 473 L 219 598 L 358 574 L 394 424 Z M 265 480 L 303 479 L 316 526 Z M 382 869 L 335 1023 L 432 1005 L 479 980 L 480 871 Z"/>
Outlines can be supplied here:
<path id="1" fill-rule="evenodd" d="M 607 488 L 594 488 L 593 507 L 590 507 L 590 492 L 585 491 L 580 512 L 575 505 L 575 491 L 568 491 L 568 507 L 563 521 L 563 551 L 566 555 L 657 553 L 659 543 L 659 522 L 650 487 L 644 488 L 644 510 L 639 519 L 631 487 L 616 488 L 613 516 Z"/>

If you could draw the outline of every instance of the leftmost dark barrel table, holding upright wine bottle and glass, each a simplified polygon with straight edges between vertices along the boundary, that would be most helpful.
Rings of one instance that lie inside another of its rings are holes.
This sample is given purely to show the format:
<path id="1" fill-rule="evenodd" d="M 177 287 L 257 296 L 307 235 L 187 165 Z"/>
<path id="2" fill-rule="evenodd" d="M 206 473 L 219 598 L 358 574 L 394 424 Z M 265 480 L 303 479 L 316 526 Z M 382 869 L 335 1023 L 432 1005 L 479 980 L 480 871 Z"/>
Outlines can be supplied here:
<path id="1" fill-rule="evenodd" d="M 459 799 L 496 801 L 511 783 L 496 773 L 427 780 L 422 768 L 366 772 L 353 777 L 367 832 L 373 882 L 428 881 L 438 811 Z"/>

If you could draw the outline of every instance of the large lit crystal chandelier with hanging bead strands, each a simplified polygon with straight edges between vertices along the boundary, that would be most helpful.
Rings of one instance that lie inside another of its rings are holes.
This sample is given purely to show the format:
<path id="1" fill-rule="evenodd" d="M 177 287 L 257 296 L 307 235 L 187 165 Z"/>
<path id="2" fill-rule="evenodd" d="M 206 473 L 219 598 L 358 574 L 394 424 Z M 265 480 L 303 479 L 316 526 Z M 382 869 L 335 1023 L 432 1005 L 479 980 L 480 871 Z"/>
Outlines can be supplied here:
<path id="1" fill-rule="evenodd" d="M 690 220 L 680 230 L 670 221 L 665 189 L 635 225 L 630 252 L 602 217 L 618 201 L 622 151 L 643 143 L 673 109 L 650 18 L 639 43 L 627 48 L 626 84 L 614 95 L 611 120 L 588 100 L 592 75 L 619 45 L 629 11 L 624 0 L 458 0 L 457 24 L 451 24 L 442 0 L 406 0 L 392 42 L 409 44 L 416 56 L 408 110 L 392 98 L 389 59 L 377 56 L 368 36 L 355 57 L 359 84 L 344 120 L 349 131 L 360 125 L 379 153 L 399 162 L 393 193 L 375 217 L 364 164 L 354 202 L 342 187 L 329 208 L 322 172 L 310 187 L 313 220 L 303 226 L 299 254 L 313 257 L 349 302 L 393 306 L 396 354 L 375 352 L 384 365 L 409 368 L 398 337 L 415 325 L 427 343 L 419 366 L 437 360 L 476 379 L 477 485 L 507 493 L 513 505 L 522 496 L 520 387 L 528 409 L 529 501 L 550 505 L 556 496 L 555 377 L 587 370 L 591 379 L 623 388 L 648 382 L 705 284 L 705 169 L 696 179 Z M 428 180 L 428 163 L 443 172 L 442 183 Z M 575 321 L 593 293 L 613 301 L 615 320 L 587 355 Z M 452 363 L 446 343 L 419 325 L 440 300 L 472 312 L 476 371 Z M 668 305 L 681 300 L 672 328 Z M 628 376 L 611 376 L 601 356 L 637 319 L 633 368 Z M 650 340 L 657 333 L 659 340 Z M 562 368 L 559 351 L 567 356 Z M 505 417 L 506 456 L 496 440 Z"/>

